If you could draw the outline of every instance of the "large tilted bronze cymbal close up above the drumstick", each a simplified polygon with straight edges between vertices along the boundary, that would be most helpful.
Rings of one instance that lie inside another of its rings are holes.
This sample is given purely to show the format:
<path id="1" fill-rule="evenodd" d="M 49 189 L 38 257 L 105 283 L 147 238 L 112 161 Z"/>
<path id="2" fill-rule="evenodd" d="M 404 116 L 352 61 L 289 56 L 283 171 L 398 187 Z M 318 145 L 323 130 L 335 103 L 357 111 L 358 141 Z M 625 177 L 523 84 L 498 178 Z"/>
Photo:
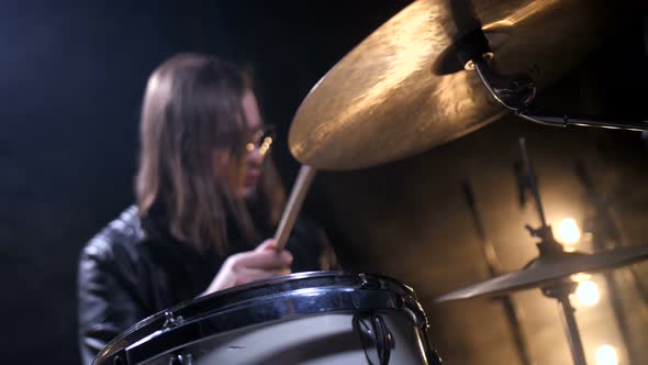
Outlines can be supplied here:
<path id="1" fill-rule="evenodd" d="M 314 86 L 290 128 L 290 151 L 304 164 L 343 170 L 457 139 L 506 110 L 473 71 L 448 58 L 455 40 L 481 27 L 492 67 L 525 73 L 541 89 L 602 45 L 630 8 L 595 0 L 415 1 Z"/>

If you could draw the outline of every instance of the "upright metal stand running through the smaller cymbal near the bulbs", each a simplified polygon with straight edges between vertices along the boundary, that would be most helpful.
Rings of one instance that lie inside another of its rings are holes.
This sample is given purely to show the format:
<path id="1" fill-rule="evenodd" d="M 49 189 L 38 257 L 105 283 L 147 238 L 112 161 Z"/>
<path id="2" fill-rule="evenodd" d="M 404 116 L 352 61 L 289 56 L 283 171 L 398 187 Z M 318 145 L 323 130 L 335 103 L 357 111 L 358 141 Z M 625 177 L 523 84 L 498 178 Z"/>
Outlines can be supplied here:
<path id="1" fill-rule="evenodd" d="M 527 177 L 528 177 L 528 185 L 530 190 L 533 191 L 536 208 L 538 210 L 538 215 L 540 217 L 541 226 L 539 229 L 532 229 L 529 225 L 526 229 L 529 231 L 532 236 L 539 237 L 540 242 L 537 243 L 537 247 L 540 252 L 540 255 L 537 259 L 543 259 L 543 257 L 547 256 L 560 256 L 563 254 L 562 246 L 556 242 L 554 234 L 551 232 L 551 226 L 547 224 L 545 220 L 545 212 L 543 210 L 543 203 L 540 201 L 540 193 L 537 186 L 536 176 L 528 158 L 528 154 L 526 151 L 526 142 L 524 139 L 519 139 L 519 148 L 522 151 L 522 156 L 524 158 L 526 169 L 527 169 Z M 573 316 L 574 309 L 569 301 L 569 295 L 573 292 L 576 289 L 576 283 L 567 280 L 559 280 L 552 283 L 543 288 L 543 294 L 548 298 L 554 298 L 558 300 L 558 307 L 561 311 L 562 319 L 563 319 L 563 330 L 567 334 L 567 339 L 569 341 L 569 347 L 571 350 L 571 356 L 573 358 L 574 365 L 585 365 L 585 355 L 583 351 L 583 345 L 581 343 L 580 333 L 578 330 L 578 325 L 576 322 L 576 318 Z"/>

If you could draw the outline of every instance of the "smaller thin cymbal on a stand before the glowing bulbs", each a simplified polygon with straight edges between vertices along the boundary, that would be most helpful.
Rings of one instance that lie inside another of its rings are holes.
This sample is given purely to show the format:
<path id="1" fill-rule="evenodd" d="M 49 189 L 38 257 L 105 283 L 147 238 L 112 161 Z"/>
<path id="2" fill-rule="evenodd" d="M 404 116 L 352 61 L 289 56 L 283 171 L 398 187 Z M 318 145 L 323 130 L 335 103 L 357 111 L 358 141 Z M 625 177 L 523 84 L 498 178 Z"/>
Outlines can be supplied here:
<path id="1" fill-rule="evenodd" d="M 540 288 L 547 284 L 579 273 L 594 273 L 648 258 L 648 247 L 623 247 L 596 254 L 568 253 L 557 258 L 543 257 L 519 272 L 469 285 L 439 297 L 450 301 L 482 296 L 498 296 L 512 291 Z"/>

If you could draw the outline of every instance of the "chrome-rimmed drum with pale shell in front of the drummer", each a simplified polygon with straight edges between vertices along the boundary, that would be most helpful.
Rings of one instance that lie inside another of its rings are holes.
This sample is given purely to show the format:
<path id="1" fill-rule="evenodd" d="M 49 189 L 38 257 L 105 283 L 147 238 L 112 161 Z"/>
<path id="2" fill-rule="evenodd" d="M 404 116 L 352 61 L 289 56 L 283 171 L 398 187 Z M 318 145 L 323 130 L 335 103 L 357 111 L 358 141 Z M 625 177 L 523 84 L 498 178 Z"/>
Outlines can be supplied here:
<path id="1" fill-rule="evenodd" d="M 181 303 L 135 324 L 93 364 L 438 364 L 407 286 L 299 273 Z"/>

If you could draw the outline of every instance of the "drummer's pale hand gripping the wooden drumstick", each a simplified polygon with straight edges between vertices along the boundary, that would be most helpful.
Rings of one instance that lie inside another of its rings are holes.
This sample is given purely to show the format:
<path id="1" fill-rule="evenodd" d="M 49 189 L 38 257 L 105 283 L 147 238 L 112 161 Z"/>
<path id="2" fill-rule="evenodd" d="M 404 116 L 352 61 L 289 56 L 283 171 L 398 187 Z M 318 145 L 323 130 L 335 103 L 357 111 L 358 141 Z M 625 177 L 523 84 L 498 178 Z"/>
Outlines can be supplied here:
<path id="1" fill-rule="evenodd" d="M 202 295 L 250 281 L 288 275 L 290 274 L 291 263 L 292 255 L 290 252 L 286 250 L 278 252 L 277 242 L 266 240 L 254 251 L 242 252 L 227 257 L 212 284 Z"/>

